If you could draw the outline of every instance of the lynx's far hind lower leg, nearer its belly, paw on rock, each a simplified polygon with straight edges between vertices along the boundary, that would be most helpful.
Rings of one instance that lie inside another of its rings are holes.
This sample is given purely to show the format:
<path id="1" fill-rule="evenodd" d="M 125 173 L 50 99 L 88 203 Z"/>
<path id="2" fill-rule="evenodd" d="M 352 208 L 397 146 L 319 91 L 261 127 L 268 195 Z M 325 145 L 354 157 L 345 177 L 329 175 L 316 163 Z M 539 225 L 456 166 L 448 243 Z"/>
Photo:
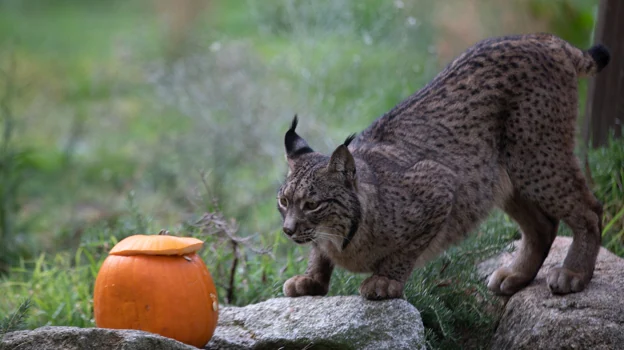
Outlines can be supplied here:
<path id="1" fill-rule="evenodd" d="M 559 221 L 518 193 L 505 202 L 503 210 L 520 225 L 522 241 L 513 262 L 500 267 L 490 276 L 488 289 L 496 294 L 511 295 L 537 275 L 555 239 Z"/>

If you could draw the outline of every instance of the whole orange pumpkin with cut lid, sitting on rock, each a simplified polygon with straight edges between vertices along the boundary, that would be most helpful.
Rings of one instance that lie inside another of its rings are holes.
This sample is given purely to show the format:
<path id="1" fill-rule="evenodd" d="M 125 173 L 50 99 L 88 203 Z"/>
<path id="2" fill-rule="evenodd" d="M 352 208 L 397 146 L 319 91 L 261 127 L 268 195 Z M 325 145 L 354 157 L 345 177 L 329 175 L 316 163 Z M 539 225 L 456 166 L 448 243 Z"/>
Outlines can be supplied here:
<path id="1" fill-rule="evenodd" d="M 202 244 L 168 235 L 136 235 L 119 242 L 95 281 L 95 324 L 204 347 L 217 326 L 219 303 L 210 272 L 195 253 Z"/>

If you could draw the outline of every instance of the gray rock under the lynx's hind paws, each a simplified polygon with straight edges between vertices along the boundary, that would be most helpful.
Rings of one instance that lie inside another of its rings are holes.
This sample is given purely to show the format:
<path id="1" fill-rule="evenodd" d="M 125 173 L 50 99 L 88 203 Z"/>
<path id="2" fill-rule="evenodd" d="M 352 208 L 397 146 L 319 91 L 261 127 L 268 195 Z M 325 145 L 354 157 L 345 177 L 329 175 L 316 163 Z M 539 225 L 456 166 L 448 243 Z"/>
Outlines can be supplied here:
<path id="1" fill-rule="evenodd" d="M 509 298 L 492 349 L 624 349 L 624 260 L 601 248 L 594 277 L 580 293 L 551 295 L 548 270 L 561 264 L 572 242 L 557 237 L 535 281 Z M 511 261 L 503 254 L 482 273 Z"/>

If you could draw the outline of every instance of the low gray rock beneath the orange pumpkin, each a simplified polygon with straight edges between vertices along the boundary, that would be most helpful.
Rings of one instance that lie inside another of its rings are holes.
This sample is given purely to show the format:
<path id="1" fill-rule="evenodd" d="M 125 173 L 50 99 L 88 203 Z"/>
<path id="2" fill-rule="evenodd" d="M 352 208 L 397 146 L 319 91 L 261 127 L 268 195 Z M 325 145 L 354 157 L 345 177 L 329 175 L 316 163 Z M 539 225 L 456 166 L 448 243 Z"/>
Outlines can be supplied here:
<path id="1" fill-rule="evenodd" d="M 191 350 L 197 348 L 143 331 L 48 326 L 31 331 L 7 333 L 0 343 L 0 349 Z"/>

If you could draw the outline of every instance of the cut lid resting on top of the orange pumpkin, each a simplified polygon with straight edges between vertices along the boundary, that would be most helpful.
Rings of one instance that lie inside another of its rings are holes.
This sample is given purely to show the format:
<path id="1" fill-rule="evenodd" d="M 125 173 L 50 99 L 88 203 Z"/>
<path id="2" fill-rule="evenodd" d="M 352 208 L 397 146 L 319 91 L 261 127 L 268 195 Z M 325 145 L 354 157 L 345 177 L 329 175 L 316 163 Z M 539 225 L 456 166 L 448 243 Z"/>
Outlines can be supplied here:
<path id="1" fill-rule="evenodd" d="M 184 255 L 201 249 L 203 241 L 193 237 L 134 235 L 122 239 L 111 255 Z"/>

